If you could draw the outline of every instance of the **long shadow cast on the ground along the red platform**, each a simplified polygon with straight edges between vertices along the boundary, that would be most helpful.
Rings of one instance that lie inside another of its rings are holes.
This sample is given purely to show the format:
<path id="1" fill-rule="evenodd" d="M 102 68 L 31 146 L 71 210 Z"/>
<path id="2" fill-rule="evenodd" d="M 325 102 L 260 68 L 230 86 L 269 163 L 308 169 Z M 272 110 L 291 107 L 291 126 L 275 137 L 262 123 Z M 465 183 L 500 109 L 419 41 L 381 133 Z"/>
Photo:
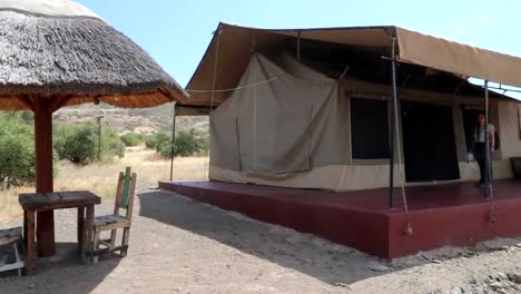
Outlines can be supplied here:
<path id="1" fill-rule="evenodd" d="M 138 197 L 144 217 L 215 239 L 332 285 L 384 274 L 368 268 L 381 265 L 377 258 L 320 237 L 252 220 L 170 192 L 142 193 Z"/>

